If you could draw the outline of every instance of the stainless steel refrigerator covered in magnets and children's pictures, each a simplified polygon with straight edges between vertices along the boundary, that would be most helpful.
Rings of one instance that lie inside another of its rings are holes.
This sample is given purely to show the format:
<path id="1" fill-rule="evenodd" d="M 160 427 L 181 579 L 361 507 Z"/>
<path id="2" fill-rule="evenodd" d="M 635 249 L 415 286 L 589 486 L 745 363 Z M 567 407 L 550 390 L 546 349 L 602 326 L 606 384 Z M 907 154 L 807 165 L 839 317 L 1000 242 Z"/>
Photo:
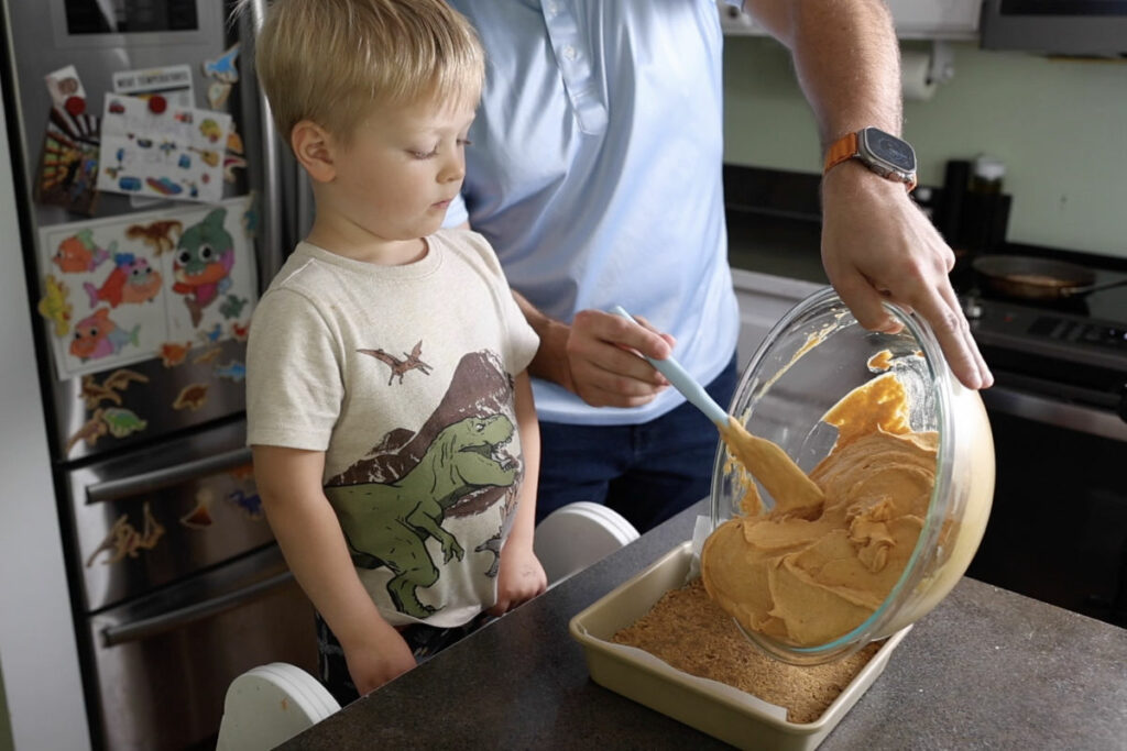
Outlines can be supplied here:
<path id="1" fill-rule="evenodd" d="M 206 744 L 312 669 L 245 447 L 255 302 L 308 223 L 250 50 L 265 0 L 2 0 L 6 124 L 96 748 Z M 18 426 L 5 426 L 18 430 Z"/>

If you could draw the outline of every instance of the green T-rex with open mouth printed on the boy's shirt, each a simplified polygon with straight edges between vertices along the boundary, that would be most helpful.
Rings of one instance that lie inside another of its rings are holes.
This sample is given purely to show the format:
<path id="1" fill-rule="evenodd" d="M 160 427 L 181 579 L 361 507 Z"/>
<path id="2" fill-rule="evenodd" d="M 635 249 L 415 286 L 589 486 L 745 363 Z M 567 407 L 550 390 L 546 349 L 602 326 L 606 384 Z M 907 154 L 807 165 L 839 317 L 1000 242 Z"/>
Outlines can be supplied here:
<path id="1" fill-rule="evenodd" d="M 442 526 L 447 509 L 482 486 L 506 488 L 516 480 L 516 461 L 499 455 L 513 430 L 504 414 L 464 418 L 438 432 L 421 461 L 400 480 L 325 489 L 354 563 L 387 566 L 394 574 L 388 592 L 401 613 L 426 618 L 435 611 L 416 594 L 419 587 L 438 580 L 426 549 L 428 537 L 442 545 L 444 563 L 461 561 L 465 554 Z"/>

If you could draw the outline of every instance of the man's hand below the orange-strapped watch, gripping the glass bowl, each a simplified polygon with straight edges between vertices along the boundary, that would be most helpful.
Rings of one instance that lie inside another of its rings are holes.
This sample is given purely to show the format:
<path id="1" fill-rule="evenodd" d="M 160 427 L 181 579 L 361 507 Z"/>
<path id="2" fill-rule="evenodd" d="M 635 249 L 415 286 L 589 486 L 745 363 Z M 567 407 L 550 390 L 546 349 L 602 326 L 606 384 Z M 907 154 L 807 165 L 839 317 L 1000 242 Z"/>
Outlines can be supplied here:
<path id="1" fill-rule="evenodd" d="M 928 321 L 965 386 L 993 384 L 948 277 L 955 253 L 904 186 L 848 162 L 824 178 L 823 206 L 822 261 L 858 323 L 894 331 L 881 302 L 898 303 Z"/>

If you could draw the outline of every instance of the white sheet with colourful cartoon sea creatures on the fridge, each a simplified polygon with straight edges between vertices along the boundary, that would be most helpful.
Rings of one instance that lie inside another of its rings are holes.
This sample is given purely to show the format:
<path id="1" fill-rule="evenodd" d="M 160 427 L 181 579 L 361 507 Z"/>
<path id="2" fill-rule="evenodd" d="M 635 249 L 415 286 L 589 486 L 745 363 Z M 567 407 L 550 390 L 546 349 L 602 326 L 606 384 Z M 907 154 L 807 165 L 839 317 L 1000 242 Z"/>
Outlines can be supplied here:
<path id="1" fill-rule="evenodd" d="M 252 196 L 39 230 L 60 379 L 241 339 L 257 297 Z"/>

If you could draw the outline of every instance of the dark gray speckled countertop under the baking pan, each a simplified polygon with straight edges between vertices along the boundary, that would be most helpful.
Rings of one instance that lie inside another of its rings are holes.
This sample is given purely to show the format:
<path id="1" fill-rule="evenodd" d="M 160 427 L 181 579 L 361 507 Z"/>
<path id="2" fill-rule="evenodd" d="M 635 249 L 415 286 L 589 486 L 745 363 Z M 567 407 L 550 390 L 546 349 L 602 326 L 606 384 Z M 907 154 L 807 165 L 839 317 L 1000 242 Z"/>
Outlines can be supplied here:
<path id="1" fill-rule="evenodd" d="M 689 539 L 703 503 L 283 749 L 707 749 L 591 680 L 570 618 Z M 964 578 L 819 749 L 1127 748 L 1127 629 Z"/>

